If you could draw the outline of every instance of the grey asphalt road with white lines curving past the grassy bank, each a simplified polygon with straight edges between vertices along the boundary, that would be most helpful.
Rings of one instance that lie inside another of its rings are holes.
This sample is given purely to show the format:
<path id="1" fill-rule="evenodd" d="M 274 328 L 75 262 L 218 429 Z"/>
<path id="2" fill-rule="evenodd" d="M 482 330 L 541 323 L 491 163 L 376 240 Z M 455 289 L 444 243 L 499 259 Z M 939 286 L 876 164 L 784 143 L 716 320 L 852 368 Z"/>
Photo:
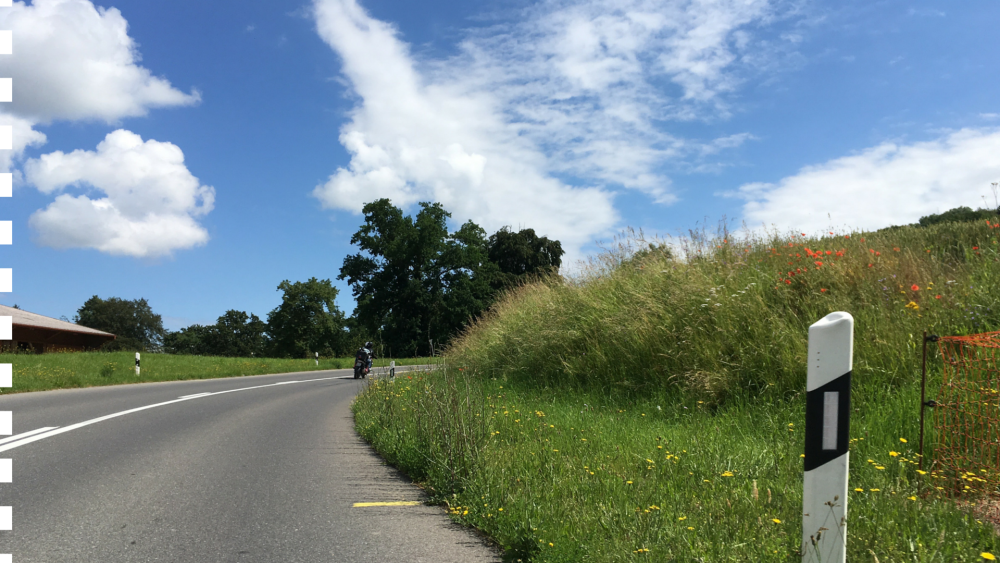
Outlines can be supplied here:
<path id="1" fill-rule="evenodd" d="M 14 413 L 13 439 L 0 436 L 0 458 L 13 460 L 12 483 L 0 485 L 13 522 L 0 554 L 14 563 L 499 561 L 354 432 L 350 404 L 365 381 L 350 374 L 0 397 Z M 211 394 L 189 397 L 201 393 Z M 107 416 L 141 407 L 150 408 Z M 41 428 L 53 430 L 18 438 Z"/>

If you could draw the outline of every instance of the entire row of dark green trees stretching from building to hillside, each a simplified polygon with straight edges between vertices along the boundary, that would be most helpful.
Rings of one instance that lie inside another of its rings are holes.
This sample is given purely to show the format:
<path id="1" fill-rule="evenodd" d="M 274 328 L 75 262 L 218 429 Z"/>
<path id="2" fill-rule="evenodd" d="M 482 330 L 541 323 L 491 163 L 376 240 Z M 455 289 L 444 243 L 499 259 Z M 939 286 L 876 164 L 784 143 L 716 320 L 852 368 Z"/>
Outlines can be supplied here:
<path id="1" fill-rule="evenodd" d="M 167 331 L 146 299 L 95 295 L 73 321 L 117 335 L 107 350 L 301 358 L 352 355 L 371 340 L 383 354 L 429 355 L 503 291 L 555 274 L 562 261 L 560 242 L 530 228 L 504 227 L 487 236 L 467 221 L 451 232 L 451 214 L 439 203 L 421 203 L 408 216 L 380 199 L 365 205 L 363 214 L 351 237 L 360 252 L 344 259 L 337 276 L 357 301 L 350 316 L 337 308 L 332 281 L 314 277 L 281 282 L 281 304 L 266 320 L 233 309 L 215 324 Z"/>

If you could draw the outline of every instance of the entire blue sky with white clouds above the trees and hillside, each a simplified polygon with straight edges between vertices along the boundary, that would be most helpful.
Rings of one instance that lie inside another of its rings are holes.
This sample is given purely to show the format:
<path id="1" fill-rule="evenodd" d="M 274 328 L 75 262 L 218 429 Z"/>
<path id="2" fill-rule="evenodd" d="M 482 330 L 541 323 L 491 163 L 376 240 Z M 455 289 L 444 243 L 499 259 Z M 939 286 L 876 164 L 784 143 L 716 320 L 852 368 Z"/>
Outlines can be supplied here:
<path id="1" fill-rule="evenodd" d="M 282 280 L 336 278 L 378 197 L 571 262 L 627 226 L 992 205 L 997 21 L 997 0 L 15 2 L 4 303 L 265 318 Z"/>

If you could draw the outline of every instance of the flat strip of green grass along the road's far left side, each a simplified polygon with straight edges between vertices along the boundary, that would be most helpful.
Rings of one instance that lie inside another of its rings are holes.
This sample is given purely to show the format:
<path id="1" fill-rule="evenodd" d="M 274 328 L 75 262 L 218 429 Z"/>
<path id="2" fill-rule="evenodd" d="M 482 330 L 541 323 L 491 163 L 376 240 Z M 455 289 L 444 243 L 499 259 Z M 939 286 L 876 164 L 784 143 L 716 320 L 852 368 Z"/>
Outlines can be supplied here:
<path id="1" fill-rule="evenodd" d="M 389 359 L 375 361 L 375 366 L 389 365 Z M 396 365 L 431 363 L 432 358 L 396 360 Z M 135 375 L 135 352 L 68 352 L 54 354 L 0 354 L 0 363 L 14 366 L 14 387 L 0 393 L 23 393 L 73 387 L 95 387 L 147 381 L 211 379 L 265 373 L 288 373 L 343 369 L 354 365 L 353 358 L 313 360 L 276 358 L 223 358 L 142 354 L 140 375 Z"/>

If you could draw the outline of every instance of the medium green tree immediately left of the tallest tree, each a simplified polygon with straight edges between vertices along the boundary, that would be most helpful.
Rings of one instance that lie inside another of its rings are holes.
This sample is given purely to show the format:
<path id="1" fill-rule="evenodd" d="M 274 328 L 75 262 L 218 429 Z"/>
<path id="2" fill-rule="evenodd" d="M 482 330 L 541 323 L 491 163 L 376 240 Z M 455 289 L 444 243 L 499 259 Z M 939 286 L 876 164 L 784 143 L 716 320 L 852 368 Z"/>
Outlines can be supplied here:
<path id="1" fill-rule="evenodd" d="M 333 355 L 344 351 L 345 318 L 335 303 L 338 292 L 330 280 L 285 280 L 278 291 L 284 292 L 281 305 L 267 315 L 273 354 L 302 358 L 313 352 Z"/>

